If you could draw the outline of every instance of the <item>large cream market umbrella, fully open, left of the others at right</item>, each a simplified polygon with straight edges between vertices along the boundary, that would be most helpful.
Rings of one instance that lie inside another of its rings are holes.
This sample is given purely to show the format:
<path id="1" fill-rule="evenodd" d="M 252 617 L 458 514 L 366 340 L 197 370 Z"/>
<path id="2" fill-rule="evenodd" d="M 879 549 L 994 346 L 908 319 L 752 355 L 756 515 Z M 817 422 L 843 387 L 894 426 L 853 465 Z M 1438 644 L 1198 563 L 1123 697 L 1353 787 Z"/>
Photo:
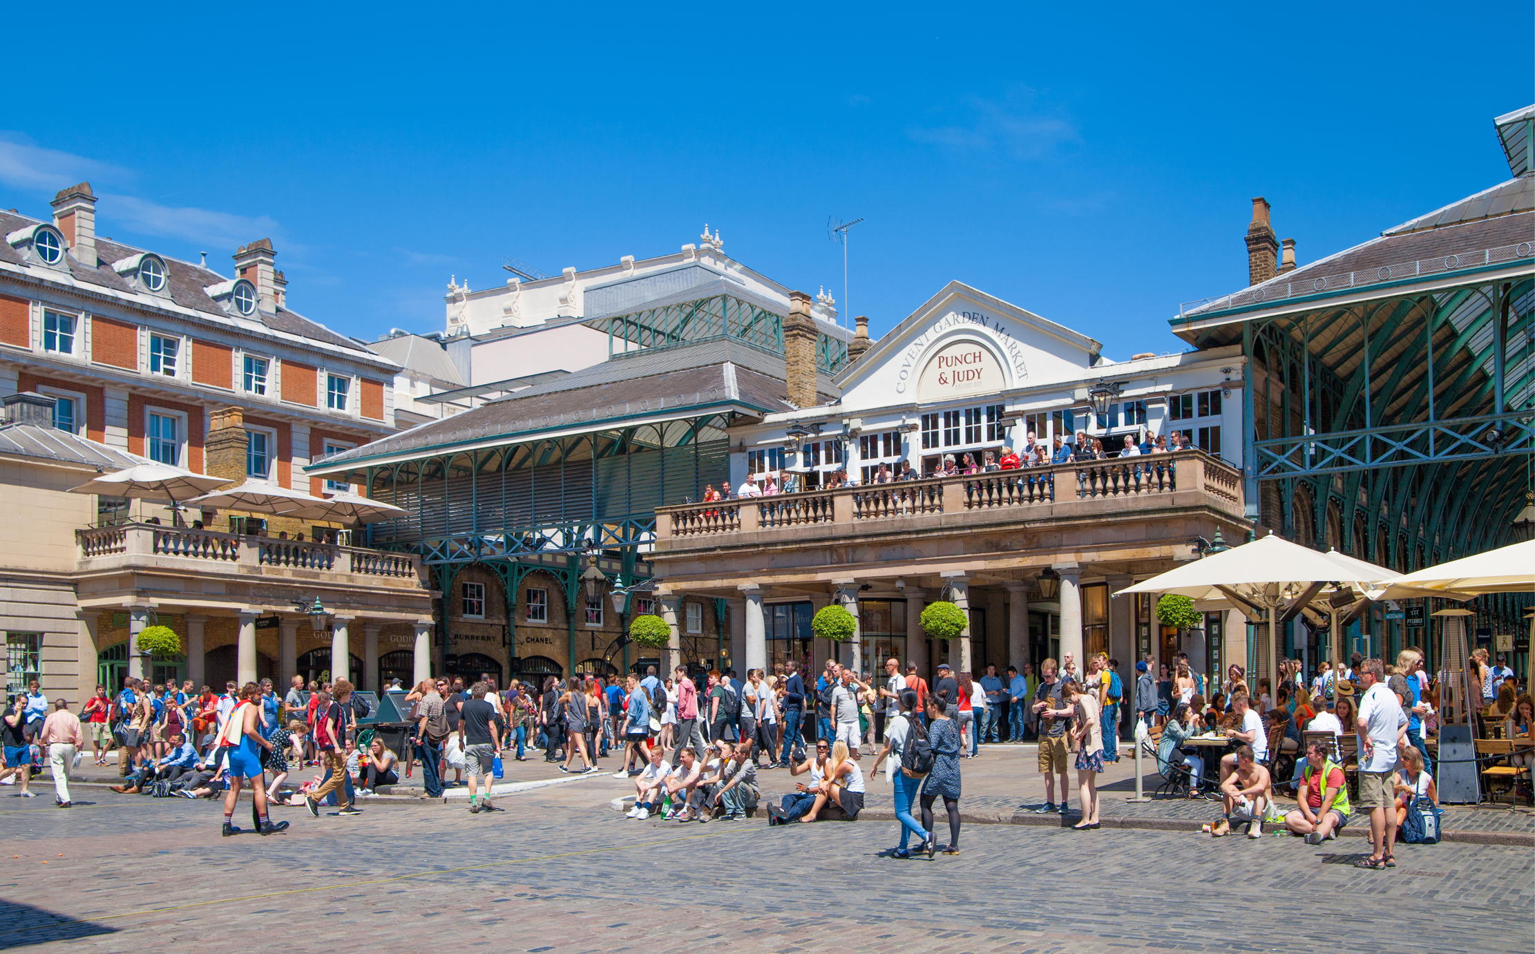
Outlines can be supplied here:
<path id="1" fill-rule="evenodd" d="M 1266 633 L 1259 638 L 1260 661 L 1265 666 L 1259 675 L 1273 679 L 1279 670 L 1276 635 L 1280 609 L 1285 620 L 1294 618 L 1329 583 L 1365 586 L 1375 583 L 1374 577 L 1374 571 L 1345 566 L 1329 560 L 1326 554 L 1269 534 L 1127 586 L 1114 595 L 1179 594 L 1193 600 L 1225 597 L 1254 624 L 1266 626 Z M 1256 689 L 1256 679 L 1253 686 Z"/>

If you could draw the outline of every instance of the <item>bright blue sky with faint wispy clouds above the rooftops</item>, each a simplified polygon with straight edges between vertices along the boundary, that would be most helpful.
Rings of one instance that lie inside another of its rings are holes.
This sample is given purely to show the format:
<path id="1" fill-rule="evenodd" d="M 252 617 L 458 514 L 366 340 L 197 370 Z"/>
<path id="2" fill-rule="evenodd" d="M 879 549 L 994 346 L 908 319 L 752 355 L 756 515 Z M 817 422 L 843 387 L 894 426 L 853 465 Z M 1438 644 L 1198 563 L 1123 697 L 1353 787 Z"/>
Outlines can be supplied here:
<path id="1" fill-rule="evenodd" d="M 160 11 L 160 12 L 157 12 Z M 0 206 L 89 179 L 98 230 L 223 271 L 270 235 L 341 331 L 697 241 L 880 333 L 950 279 L 1110 357 L 1246 282 L 1249 199 L 1314 261 L 1507 178 L 1527 3 L 8 11 Z M 1288 17 L 1279 15 L 1283 11 Z M 45 89 L 45 86 L 51 86 Z"/>

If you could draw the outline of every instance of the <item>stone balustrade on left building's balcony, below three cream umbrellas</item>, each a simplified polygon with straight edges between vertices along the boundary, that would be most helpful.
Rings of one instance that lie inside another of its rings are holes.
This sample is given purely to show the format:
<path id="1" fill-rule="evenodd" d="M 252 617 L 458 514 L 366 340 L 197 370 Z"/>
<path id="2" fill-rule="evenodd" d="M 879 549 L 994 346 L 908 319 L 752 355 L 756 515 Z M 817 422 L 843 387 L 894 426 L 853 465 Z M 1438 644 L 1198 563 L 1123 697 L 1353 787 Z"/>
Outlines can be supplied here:
<path id="1" fill-rule="evenodd" d="M 359 577 L 407 578 L 418 575 L 413 557 L 356 546 L 336 546 L 278 537 L 243 537 L 158 523 L 124 523 L 75 531 L 81 567 L 101 557 L 163 557 L 186 560 L 190 566 L 236 566 L 309 569 L 356 574 Z"/>

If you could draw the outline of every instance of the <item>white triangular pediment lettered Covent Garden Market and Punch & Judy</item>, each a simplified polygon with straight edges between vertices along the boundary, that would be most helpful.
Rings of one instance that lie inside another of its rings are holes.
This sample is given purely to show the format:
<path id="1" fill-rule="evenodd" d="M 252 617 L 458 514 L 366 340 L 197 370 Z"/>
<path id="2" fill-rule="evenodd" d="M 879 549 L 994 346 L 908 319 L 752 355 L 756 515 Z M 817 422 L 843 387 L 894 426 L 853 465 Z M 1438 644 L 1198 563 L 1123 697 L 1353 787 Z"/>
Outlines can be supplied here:
<path id="1" fill-rule="evenodd" d="M 939 403 L 1081 377 L 1102 345 L 1064 325 L 950 282 L 847 371 L 843 408 Z"/>

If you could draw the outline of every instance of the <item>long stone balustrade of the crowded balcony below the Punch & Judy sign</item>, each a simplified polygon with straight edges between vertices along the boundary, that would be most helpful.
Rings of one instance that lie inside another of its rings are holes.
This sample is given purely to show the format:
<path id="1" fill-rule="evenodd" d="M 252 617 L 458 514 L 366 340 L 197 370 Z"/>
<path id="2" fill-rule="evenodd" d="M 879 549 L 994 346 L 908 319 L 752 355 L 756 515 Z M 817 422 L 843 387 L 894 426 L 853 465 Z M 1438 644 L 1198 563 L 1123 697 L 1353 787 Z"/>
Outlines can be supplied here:
<path id="1" fill-rule="evenodd" d="M 1012 512 L 1027 520 L 1044 517 L 1053 505 L 1073 502 L 1173 503 L 1179 491 L 1193 491 L 1193 498 L 1203 495 L 1211 506 L 1242 515 L 1240 471 L 1200 451 L 1179 451 L 668 506 L 655 511 L 655 529 L 657 538 L 665 540 L 834 523 L 872 526 L 903 517 L 981 511 Z"/>

